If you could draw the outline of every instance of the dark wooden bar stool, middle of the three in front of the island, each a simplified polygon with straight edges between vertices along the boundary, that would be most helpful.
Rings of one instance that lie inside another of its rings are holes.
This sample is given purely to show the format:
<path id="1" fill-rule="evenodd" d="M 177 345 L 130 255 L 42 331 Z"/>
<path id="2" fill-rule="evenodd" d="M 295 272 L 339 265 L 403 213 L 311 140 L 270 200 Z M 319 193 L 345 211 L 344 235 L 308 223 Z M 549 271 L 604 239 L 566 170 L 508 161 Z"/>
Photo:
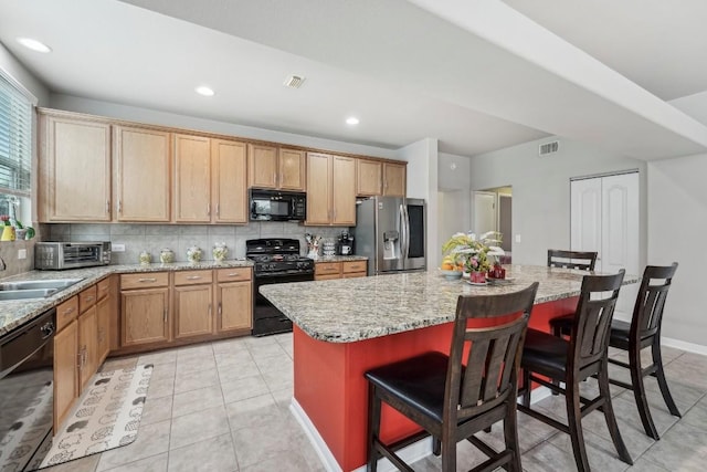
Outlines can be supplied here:
<path id="1" fill-rule="evenodd" d="M 585 275 L 569 340 L 528 329 L 523 348 L 520 368 L 524 373 L 524 391 L 523 405 L 519 405 L 518 409 L 568 433 L 572 441 L 577 469 L 581 472 L 590 470 L 581 420 L 598 408 L 604 413 L 619 457 L 622 461 L 633 464 L 619 432 L 611 405 L 606 355 L 609 329 L 623 276 L 623 269 L 615 275 Z M 611 295 L 606 296 L 606 292 L 611 292 Z M 548 377 L 550 381 L 537 377 L 536 374 Z M 593 399 L 580 397 L 579 384 L 592 376 L 598 377 L 599 396 Z M 568 424 L 530 409 L 531 381 L 564 395 Z M 559 382 L 564 382 L 564 388 L 559 387 Z"/>

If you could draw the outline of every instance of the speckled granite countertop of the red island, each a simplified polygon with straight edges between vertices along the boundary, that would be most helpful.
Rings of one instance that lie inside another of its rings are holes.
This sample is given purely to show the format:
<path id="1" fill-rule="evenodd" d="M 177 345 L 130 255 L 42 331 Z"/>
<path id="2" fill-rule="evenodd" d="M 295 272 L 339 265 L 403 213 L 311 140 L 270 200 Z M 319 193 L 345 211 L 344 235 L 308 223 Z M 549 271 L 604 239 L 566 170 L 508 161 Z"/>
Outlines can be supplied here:
<path id="1" fill-rule="evenodd" d="M 585 272 L 538 265 L 506 265 L 504 285 L 472 286 L 437 271 L 360 279 L 263 285 L 260 291 L 315 339 L 354 343 L 454 321 L 462 294 L 517 292 L 540 282 L 535 303 L 577 296 Z M 624 284 L 639 277 L 626 274 Z"/>

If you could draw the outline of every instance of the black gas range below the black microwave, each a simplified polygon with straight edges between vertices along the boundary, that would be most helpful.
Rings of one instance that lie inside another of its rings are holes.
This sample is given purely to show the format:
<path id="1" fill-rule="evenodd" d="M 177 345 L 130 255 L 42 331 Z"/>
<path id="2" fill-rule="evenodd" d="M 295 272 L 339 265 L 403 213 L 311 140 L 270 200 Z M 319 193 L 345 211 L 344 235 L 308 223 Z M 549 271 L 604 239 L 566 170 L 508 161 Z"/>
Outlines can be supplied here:
<path id="1" fill-rule="evenodd" d="M 292 321 L 260 293 L 261 285 L 314 280 L 314 261 L 299 255 L 299 240 L 252 239 L 245 256 L 253 261 L 253 336 L 292 331 Z"/>

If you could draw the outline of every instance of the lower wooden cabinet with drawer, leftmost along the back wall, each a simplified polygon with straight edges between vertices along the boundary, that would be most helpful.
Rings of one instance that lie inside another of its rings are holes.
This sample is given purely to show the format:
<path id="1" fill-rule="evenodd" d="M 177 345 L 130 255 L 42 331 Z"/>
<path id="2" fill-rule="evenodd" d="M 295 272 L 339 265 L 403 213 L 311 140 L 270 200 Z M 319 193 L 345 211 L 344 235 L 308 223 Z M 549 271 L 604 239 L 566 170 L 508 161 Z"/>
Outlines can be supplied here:
<path id="1" fill-rule="evenodd" d="M 167 343 L 169 273 L 120 275 L 120 346 Z"/>

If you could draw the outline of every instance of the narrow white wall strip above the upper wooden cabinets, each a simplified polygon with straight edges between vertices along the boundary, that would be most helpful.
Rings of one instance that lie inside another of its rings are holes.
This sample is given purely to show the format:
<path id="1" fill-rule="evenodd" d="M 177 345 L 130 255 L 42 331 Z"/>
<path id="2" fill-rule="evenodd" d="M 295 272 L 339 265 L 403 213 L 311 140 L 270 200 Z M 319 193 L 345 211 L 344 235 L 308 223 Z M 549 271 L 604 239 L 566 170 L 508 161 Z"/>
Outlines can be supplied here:
<path id="1" fill-rule="evenodd" d="M 102 102 L 72 95 L 52 94 L 50 105 L 52 108 L 68 112 L 87 113 L 91 115 L 107 116 L 116 119 L 139 122 L 159 126 L 171 126 L 186 129 L 194 129 L 207 133 L 218 133 L 229 136 L 238 136 L 251 139 L 262 139 L 274 143 L 305 146 L 317 149 L 339 153 L 359 154 L 365 156 L 400 159 L 394 149 L 386 149 L 374 146 L 365 146 L 333 139 L 315 138 L 312 136 L 293 133 L 275 132 L 271 129 L 255 128 L 251 126 L 235 125 L 226 122 L 197 118 L 193 116 L 178 115 L 175 113 L 159 112 L 156 109 L 140 108 L 137 106 L 120 105 L 110 102 Z"/>

